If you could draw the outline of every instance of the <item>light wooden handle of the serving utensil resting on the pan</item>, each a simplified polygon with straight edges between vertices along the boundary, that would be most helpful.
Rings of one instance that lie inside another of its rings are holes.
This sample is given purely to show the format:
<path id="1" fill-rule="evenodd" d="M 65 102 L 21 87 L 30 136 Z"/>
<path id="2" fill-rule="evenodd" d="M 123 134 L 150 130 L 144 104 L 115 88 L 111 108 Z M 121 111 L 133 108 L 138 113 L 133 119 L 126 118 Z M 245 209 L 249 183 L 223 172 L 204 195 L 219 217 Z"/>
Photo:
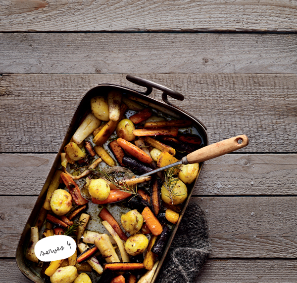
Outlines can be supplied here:
<path id="1" fill-rule="evenodd" d="M 240 143 L 239 143 L 240 142 Z M 221 155 L 236 151 L 248 145 L 248 138 L 246 135 L 236 136 L 230 139 L 226 139 L 205 147 L 198 149 L 187 155 L 187 162 L 198 163 L 206 160 L 210 160 Z M 185 162 L 185 158 L 182 160 L 183 164 L 187 164 Z"/>

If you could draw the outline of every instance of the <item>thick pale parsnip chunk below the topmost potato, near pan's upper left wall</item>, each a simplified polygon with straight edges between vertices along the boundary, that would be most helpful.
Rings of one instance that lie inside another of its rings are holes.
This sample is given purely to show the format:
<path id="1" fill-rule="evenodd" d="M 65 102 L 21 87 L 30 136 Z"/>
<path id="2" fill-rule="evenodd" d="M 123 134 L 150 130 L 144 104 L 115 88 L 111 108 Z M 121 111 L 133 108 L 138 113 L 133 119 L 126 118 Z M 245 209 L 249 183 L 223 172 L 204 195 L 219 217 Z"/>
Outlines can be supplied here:
<path id="1" fill-rule="evenodd" d="M 94 115 L 89 114 L 74 133 L 72 137 L 73 141 L 76 144 L 81 144 L 88 135 L 90 135 L 96 128 L 99 127 L 100 123 L 101 121 L 98 120 Z"/>

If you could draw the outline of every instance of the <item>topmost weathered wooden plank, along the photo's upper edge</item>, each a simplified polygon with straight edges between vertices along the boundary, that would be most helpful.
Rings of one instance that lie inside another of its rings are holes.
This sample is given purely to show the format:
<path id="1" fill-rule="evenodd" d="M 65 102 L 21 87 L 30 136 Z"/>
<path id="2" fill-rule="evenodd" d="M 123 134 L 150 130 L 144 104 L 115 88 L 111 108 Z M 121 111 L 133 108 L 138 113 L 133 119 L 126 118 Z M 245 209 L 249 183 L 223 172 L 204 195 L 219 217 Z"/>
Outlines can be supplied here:
<path id="1" fill-rule="evenodd" d="M 296 31 L 290 0 L 2 0 L 0 31 Z"/>

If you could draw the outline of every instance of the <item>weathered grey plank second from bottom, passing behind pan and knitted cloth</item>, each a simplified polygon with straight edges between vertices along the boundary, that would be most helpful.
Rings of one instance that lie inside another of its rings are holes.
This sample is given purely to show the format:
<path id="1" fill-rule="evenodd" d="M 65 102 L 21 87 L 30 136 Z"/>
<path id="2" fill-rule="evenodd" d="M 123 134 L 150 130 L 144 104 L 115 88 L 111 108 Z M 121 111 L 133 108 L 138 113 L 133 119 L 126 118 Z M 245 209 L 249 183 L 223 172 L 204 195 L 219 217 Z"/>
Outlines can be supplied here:
<path id="1" fill-rule="evenodd" d="M 15 255 L 36 198 L 0 197 L 0 257 Z M 203 197 L 193 201 L 206 213 L 212 257 L 297 257 L 297 197 Z"/>

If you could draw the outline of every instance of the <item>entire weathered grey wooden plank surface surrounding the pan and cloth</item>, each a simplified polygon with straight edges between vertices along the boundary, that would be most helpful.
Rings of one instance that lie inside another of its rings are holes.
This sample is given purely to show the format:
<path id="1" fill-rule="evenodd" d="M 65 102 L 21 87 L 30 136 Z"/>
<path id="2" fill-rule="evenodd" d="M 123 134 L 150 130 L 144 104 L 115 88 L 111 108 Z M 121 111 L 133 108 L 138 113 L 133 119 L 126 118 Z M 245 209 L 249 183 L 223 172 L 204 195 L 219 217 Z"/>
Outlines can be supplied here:
<path id="1" fill-rule="evenodd" d="M 250 140 L 206 162 L 195 188 L 213 245 L 196 282 L 296 282 L 296 11 L 292 0 L 1 1 L 0 283 L 29 282 L 16 245 L 80 98 L 103 82 L 143 90 L 128 73 L 182 92 L 170 101 L 211 143 Z"/>

